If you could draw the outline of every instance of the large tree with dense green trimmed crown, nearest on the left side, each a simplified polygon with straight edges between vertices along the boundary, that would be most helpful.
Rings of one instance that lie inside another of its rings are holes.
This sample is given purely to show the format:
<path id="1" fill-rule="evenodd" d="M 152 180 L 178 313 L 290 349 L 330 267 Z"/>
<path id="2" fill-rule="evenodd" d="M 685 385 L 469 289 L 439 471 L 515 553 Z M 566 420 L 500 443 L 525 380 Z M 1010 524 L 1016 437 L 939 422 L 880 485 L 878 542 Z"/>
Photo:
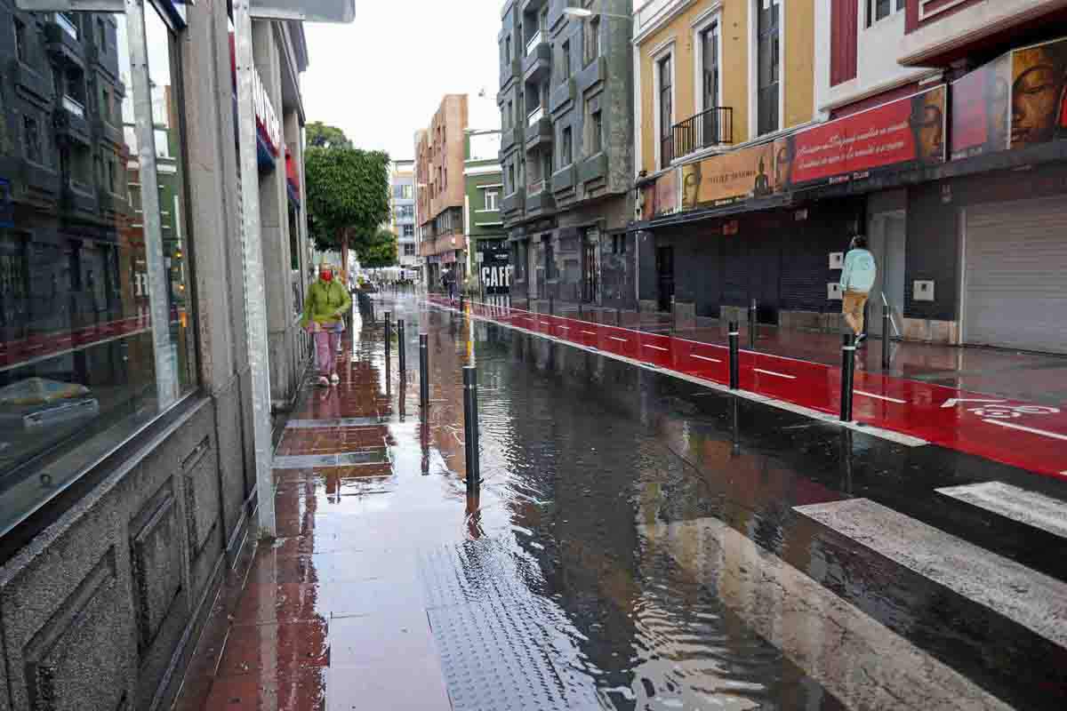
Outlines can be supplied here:
<path id="1" fill-rule="evenodd" d="M 313 146 L 304 155 L 307 227 L 315 246 L 362 254 L 389 217 L 389 157 L 378 150 Z"/>

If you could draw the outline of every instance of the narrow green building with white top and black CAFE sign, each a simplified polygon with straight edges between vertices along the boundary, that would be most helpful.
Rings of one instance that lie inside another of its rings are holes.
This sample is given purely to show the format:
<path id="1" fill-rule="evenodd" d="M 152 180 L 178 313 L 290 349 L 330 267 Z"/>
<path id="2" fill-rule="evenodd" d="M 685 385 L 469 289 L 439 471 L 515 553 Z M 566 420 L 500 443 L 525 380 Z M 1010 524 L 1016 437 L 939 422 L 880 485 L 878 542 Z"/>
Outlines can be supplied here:
<path id="1" fill-rule="evenodd" d="M 467 249 L 467 288 L 482 294 L 507 294 L 511 287 L 511 251 L 500 217 L 504 191 L 500 163 L 500 132 L 471 130 L 466 135 L 463 179 L 464 236 Z"/>

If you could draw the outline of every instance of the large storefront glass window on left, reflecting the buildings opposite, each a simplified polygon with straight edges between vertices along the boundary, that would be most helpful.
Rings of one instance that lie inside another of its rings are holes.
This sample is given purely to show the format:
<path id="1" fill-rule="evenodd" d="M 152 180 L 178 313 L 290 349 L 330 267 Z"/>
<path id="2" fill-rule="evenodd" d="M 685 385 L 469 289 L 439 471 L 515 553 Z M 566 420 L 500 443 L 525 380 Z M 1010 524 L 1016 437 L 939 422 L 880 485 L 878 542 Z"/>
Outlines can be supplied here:
<path id="1" fill-rule="evenodd" d="M 177 394 L 195 386 L 175 37 L 145 14 L 170 139 L 156 271 L 170 275 L 169 324 L 150 318 L 126 16 L 73 13 L 97 30 L 79 35 L 79 63 L 47 51 L 54 14 L 0 14 L 0 36 L 26 28 L 16 61 L 32 70 L 0 75 L 0 535 L 161 414 L 154 328 L 168 329 Z M 0 45 L 0 64 L 15 51 Z"/>

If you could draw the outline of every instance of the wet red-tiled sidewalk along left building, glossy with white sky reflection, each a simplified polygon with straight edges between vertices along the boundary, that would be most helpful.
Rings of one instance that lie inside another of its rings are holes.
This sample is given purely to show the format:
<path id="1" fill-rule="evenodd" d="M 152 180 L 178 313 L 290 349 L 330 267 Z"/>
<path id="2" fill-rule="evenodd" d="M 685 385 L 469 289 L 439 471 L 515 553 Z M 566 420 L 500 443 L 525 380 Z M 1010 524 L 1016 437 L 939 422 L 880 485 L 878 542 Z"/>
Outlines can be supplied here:
<path id="1" fill-rule="evenodd" d="M 274 470 L 278 537 L 256 550 L 243 589 L 232 582 L 217 603 L 179 711 L 450 709 L 416 550 L 461 539 L 464 507 L 442 496 L 442 478 L 419 470 L 423 425 L 393 417 L 380 343 L 355 355 L 347 345 L 340 386 L 305 393 L 277 454 L 391 457 Z M 307 422 L 339 418 L 367 423 Z M 427 438 L 447 426 L 431 420 Z"/>

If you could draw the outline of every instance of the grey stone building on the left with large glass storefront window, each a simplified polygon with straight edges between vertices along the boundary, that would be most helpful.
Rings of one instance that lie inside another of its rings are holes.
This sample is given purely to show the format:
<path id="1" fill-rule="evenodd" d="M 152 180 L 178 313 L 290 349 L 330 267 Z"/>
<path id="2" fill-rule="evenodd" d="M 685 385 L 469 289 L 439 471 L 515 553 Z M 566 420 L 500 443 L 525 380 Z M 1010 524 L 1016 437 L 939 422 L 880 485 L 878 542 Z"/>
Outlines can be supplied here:
<path id="1" fill-rule="evenodd" d="M 273 400 L 307 358 L 301 25 L 253 22 L 241 175 L 227 3 L 123 4 L 0 0 L 3 710 L 169 708 L 254 544 L 245 239 L 269 275 Z"/>

